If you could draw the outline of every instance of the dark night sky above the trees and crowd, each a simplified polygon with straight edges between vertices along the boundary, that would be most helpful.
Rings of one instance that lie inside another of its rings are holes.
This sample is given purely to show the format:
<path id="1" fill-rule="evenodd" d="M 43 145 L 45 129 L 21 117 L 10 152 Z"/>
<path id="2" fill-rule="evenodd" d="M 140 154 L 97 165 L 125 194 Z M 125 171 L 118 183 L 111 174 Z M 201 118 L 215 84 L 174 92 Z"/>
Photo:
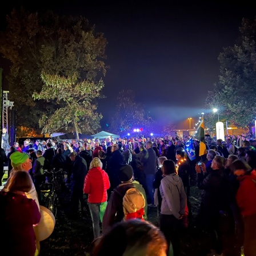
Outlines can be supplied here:
<path id="1" fill-rule="evenodd" d="M 98 109 L 104 117 L 103 129 L 113 113 L 116 95 L 123 89 L 134 90 L 156 120 L 179 123 L 198 118 L 207 91 L 218 81 L 219 53 L 234 45 L 242 18 L 256 16 L 249 1 L 204 1 L 205 5 L 197 1 L 14 2 L 1 6 L 1 23 L 23 2 L 31 11 L 83 15 L 95 24 L 96 31 L 105 34 L 110 69 L 103 78 L 107 98 L 99 101 Z"/>

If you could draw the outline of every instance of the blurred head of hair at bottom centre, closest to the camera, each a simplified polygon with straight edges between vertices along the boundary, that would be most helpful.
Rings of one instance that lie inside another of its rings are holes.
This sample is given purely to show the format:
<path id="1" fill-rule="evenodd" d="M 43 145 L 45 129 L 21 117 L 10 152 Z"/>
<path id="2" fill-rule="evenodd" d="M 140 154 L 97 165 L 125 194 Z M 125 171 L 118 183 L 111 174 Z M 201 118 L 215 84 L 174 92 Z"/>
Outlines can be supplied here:
<path id="1" fill-rule="evenodd" d="M 116 223 L 108 233 L 95 240 L 93 246 L 92 256 L 158 256 L 167 250 L 166 239 L 159 228 L 140 219 Z"/>

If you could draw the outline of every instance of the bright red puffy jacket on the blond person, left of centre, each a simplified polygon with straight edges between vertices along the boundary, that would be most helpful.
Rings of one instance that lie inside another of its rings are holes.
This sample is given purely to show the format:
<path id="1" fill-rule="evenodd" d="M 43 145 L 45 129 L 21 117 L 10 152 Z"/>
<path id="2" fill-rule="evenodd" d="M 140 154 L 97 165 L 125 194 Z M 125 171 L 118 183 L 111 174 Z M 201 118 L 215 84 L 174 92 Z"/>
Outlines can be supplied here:
<path id="1" fill-rule="evenodd" d="M 106 202 L 109 188 L 109 176 L 104 170 L 93 167 L 88 171 L 83 184 L 83 193 L 88 194 L 89 203 Z"/>

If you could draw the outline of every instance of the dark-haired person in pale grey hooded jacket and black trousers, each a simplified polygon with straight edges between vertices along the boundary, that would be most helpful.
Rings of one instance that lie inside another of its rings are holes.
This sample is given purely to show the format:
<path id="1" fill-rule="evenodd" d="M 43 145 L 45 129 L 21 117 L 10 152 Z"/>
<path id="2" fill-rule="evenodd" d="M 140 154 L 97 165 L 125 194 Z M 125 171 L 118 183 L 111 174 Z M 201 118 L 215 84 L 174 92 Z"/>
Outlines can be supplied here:
<path id="1" fill-rule="evenodd" d="M 179 255 L 181 219 L 185 215 L 186 193 L 182 179 L 176 174 L 172 160 L 163 161 L 163 178 L 159 187 L 162 196 L 160 230 L 165 235 L 167 244 L 173 246 L 174 256 Z M 167 250 L 167 255 L 169 248 Z"/>

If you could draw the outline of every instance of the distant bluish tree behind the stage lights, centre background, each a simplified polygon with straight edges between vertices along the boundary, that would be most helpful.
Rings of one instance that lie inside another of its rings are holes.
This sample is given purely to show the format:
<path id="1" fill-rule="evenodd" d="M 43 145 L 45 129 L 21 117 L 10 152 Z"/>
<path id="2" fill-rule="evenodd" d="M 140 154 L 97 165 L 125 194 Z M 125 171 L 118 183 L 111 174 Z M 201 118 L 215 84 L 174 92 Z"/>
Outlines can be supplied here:
<path id="1" fill-rule="evenodd" d="M 111 118 L 110 130 L 113 133 L 131 132 L 134 128 L 153 131 L 154 121 L 145 114 L 143 105 L 135 101 L 133 90 L 119 91 L 115 113 Z"/>

